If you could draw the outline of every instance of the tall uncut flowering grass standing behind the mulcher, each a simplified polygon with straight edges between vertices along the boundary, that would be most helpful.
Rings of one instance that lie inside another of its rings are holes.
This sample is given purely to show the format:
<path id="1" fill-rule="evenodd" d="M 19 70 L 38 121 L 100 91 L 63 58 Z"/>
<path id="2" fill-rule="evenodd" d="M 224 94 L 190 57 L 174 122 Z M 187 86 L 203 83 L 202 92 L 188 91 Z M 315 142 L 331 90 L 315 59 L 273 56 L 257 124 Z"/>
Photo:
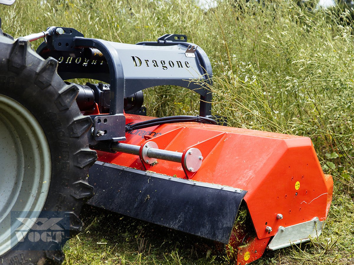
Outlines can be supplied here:
<path id="1" fill-rule="evenodd" d="M 15 37 L 51 25 L 126 43 L 186 34 L 211 60 L 213 113 L 232 126 L 311 137 L 335 180 L 327 235 L 340 237 L 340 225 L 353 227 L 345 218 L 353 218 L 354 36 L 340 21 L 350 20 L 349 12 L 309 12 L 272 0 L 218 1 L 208 11 L 191 0 L 18 0 L 1 6 L 0 17 L 2 29 Z M 150 115 L 195 114 L 198 95 L 158 87 L 148 89 L 145 105 Z"/>

